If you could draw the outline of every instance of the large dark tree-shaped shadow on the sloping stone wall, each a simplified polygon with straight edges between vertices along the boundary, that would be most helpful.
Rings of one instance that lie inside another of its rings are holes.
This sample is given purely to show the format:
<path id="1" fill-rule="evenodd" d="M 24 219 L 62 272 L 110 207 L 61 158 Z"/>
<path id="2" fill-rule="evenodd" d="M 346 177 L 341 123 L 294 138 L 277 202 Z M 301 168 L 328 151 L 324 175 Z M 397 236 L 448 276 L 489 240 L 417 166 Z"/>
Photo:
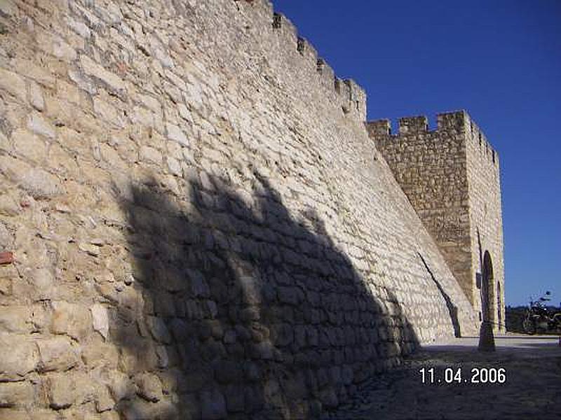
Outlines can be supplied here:
<path id="1" fill-rule="evenodd" d="M 374 298 L 318 215 L 258 180 L 201 174 L 178 198 L 149 179 L 120 201 L 144 301 L 112 313 L 123 417 L 313 417 L 417 346 L 391 291 Z"/>

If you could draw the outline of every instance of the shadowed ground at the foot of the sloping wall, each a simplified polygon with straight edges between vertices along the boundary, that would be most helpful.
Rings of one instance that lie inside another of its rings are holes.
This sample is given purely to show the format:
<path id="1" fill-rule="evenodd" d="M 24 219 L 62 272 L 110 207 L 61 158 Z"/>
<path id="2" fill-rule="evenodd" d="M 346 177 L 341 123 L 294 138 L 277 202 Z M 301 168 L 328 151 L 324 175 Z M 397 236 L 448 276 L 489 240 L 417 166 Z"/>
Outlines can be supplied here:
<path id="1" fill-rule="evenodd" d="M 561 419 L 558 338 L 507 335 L 496 346 L 495 353 L 480 353 L 476 338 L 426 346 L 323 419 Z"/>

